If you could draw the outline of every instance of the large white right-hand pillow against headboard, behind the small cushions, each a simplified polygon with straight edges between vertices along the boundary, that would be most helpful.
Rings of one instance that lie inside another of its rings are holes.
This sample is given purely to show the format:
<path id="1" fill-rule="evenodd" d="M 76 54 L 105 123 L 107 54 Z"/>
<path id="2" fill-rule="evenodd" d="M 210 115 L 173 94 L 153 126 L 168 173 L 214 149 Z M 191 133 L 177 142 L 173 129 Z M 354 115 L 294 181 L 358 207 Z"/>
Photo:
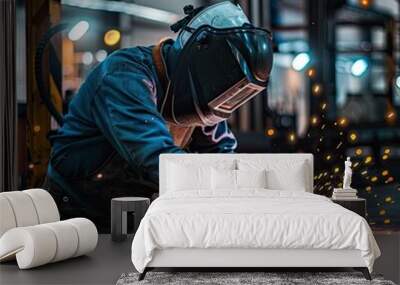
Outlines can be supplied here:
<path id="1" fill-rule="evenodd" d="M 266 169 L 267 188 L 272 190 L 306 191 L 310 181 L 304 160 L 238 160 L 239 170 Z"/>

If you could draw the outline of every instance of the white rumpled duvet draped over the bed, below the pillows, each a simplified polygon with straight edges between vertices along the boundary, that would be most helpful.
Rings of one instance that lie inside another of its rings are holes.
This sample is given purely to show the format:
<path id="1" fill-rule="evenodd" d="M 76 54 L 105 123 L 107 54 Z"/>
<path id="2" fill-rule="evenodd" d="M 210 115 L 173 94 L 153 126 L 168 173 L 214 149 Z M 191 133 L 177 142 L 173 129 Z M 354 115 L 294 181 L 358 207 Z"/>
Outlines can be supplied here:
<path id="1" fill-rule="evenodd" d="M 135 268 L 165 248 L 358 249 L 370 271 L 380 255 L 359 215 L 320 195 L 265 189 L 162 195 L 134 237 Z"/>

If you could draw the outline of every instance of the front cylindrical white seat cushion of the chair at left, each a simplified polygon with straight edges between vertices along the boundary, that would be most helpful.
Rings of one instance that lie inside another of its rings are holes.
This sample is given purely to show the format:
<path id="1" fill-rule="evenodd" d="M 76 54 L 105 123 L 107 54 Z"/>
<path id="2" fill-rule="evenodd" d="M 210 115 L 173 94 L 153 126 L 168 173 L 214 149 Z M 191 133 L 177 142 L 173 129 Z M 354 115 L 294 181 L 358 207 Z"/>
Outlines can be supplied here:
<path id="1" fill-rule="evenodd" d="M 0 261 L 16 257 L 20 269 L 76 257 L 97 245 L 95 225 L 84 218 L 18 227 L 0 238 Z"/>

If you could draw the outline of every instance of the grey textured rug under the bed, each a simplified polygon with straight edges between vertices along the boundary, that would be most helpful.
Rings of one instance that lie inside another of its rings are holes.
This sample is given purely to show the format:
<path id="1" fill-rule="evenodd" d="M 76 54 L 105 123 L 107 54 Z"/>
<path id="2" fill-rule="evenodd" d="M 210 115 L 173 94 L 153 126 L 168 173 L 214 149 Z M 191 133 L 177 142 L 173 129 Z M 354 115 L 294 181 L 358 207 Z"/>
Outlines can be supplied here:
<path id="1" fill-rule="evenodd" d="M 395 285 L 384 280 L 382 276 L 372 275 L 368 281 L 359 272 L 148 272 L 146 278 L 137 281 L 138 273 L 122 274 L 117 285 L 146 284 L 213 284 L 213 285 L 246 285 L 246 284 L 379 284 Z"/>

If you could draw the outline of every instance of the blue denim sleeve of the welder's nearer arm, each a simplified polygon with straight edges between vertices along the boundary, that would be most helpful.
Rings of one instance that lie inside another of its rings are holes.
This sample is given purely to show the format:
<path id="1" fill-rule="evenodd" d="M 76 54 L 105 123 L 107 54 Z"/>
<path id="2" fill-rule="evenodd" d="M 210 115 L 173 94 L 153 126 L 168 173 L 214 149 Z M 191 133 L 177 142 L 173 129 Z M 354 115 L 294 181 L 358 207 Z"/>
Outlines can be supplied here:
<path id="1" fill-rule="evenodd" d="M 155 90 L 145 72 L 117 70 L 99 83 L 92 110 L 96 124 L 118 153 L 158 183 L 159 155 L 183 150 L 174 145 L 156 108 Z"/>

